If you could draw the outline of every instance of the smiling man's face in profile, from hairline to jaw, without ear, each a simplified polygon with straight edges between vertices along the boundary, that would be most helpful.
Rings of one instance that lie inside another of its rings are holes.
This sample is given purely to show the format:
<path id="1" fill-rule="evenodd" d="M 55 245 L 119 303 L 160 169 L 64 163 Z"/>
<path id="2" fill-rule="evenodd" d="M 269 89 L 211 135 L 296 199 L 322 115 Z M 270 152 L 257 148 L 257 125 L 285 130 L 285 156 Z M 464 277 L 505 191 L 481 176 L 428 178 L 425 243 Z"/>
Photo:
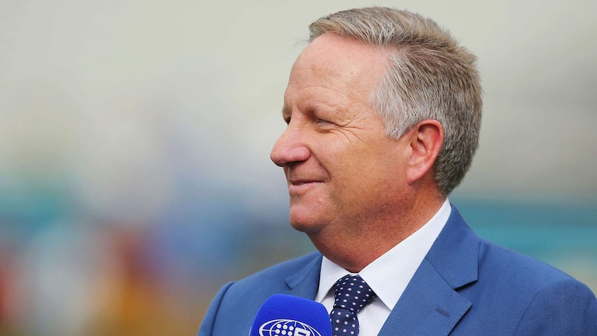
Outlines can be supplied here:
<path id="1" fill-rule="evenodd" d="M 284 168 L 295 229 L 358 235 L 396 211 L 407 145 L 386 137 L 370 104 L 386 58 L 380 48 L 324 34 L 294 63 L 284 96 L 288 127 L 271 160 Z"/>

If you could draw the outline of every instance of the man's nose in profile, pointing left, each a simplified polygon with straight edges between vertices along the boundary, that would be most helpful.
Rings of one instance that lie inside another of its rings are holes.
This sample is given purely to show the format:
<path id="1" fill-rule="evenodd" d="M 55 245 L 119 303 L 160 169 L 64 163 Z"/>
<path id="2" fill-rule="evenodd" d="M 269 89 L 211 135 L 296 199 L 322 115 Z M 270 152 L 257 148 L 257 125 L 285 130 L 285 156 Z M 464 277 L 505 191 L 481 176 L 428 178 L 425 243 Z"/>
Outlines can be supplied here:
<path id="1" fill-rule="evenodd" d="M 271 148 L 269 158 L 280 167 L 293 162 L 306 161 L 311 156 L 311 151 L 304 140 L 304 130 L 291 121 L 274 144 L 274 148 Z"/>

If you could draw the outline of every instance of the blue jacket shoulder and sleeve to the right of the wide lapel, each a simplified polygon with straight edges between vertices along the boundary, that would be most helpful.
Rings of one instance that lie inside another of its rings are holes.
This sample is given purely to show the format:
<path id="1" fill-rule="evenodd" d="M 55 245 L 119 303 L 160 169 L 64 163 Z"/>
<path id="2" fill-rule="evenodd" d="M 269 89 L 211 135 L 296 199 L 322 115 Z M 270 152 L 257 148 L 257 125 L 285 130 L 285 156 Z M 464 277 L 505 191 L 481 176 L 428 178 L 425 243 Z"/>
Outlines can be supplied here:
<path id="1" fill-rule="evenodd" d="M 472 302 L 470 317 L 500 317 L 496 333 L 597 335 L 597 300 L 587 285 L 486 240 L 479 244 L 478 281 L 459 292 Z"/>

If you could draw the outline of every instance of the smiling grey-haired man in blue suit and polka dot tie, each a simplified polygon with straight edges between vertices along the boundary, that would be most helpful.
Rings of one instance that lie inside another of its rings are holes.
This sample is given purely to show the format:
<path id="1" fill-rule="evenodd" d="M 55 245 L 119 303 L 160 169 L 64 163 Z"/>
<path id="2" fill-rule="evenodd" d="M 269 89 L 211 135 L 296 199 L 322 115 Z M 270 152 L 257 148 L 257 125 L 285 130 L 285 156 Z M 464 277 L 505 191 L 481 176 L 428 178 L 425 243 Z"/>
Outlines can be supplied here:
<path id="1" fill-rule="evenodd" d="M 225 285 L 199 335 L 247 335 L 277 293 L 323 303 L 334 335 L 597 335 L 585 285 L 481 240 L 447 200 L 479 138 L 474 55 L 391 8 L 337 12 L 310 32 L 271 159 L 292 227 L 319 253 Z M 371 294 L 360 310 L 338 303 L 350 284 Z"/>

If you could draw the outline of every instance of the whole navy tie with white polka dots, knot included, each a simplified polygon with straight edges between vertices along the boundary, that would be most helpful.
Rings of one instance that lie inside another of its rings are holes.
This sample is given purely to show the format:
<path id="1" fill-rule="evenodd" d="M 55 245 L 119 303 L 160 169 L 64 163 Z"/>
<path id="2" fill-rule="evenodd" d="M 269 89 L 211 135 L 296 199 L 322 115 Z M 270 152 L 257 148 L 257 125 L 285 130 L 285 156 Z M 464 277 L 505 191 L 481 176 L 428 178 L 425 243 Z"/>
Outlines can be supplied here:
<path id="1" fill-rule="evenodd" d="M 334 308 L 330 312 L 334 336 L 359 335 L 357 312 L 375 297 L 369 285 L 358 275 L 346 275 L 336 281 Z"/>

